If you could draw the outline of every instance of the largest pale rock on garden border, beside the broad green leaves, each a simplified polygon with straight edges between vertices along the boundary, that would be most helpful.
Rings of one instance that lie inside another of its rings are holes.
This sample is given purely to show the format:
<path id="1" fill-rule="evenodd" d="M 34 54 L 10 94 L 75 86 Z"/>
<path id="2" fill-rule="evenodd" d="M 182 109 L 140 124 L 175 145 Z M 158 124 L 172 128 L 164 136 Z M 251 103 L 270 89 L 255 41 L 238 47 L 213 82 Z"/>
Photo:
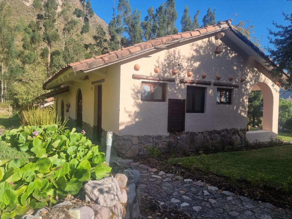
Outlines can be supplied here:
<path id="1" fill-rule="evenodd" d="M 89 180 L 84 185 L 84 192 L 92 201 L 102 206 L 114 206 L 121 199 L 118 181 L 113 177 Z"/>

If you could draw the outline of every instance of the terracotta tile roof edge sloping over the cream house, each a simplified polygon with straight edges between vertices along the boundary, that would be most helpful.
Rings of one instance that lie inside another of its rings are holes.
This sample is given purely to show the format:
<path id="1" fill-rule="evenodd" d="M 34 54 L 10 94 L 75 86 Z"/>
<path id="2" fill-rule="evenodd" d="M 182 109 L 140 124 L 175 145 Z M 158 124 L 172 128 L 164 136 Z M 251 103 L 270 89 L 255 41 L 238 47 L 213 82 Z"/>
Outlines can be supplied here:
<path id="1" fill-rule="evenodd" d="M 65 72 L 67 69 L 69 69 L 71 67 L 73 68 L 74 72 L 89 70 L 89 69 L 92 69 L 95 67 L 100 67 L 102 65 L 106 65 L 108 63 L 121 60 L 121 59 L 129 57 L 131 55 L 138 54 L 144 50 L 147 51 L 148 49 L 153 48 L 154 46 L 163 46 L 164 44 L 177 42 L 177 41 L 180 41 L 181 39 L 187 39 L 187 38 L 199 36 L 199 35 L 205 34 L 205 33 L 208 34 L 210 32 L 218 31 L 220 29 L 224 29 L 224 28 L 228 28 L 228 27 L 230 29 L 237 31 L 237 29 L 231 25 L 231 20 L 226 20 L 223 22 L 219 22 L 216 25 L 210 25 L 207 27 L 201 27 L 201 28 L 187 31 L 187 32 L 183 32 L 183 33 L 177 33 L 177 34 L 173 34 L 173 35 L 169 35 L 169 36 L 160 37 L 157 39 L 153 39 L 153 40 L 145 41 L 145 42 L 142 42 L 139 44 L 135 44 L 135 45 L 130 46 L 130 47 L 122 48 L 122 49 L 119 49 L 117 51 L 112 51 L 112 52 L 109 52 L 109 53 L 104 54 L 104 55 L 98 55 L 98 56 L 95 56 L 95 57 L 90 58 L 90 59 L 85 59 L 85 60 L 81 60 L 79 62 L 69 63 L 68 65 L 62 67 L 55 74 L 53 74 L 53 76 L 51 78 L 49 78 L 43 84 L 43 88 L 46 89 L 46 85 L 49 82 L 53 81 L 53 79 L 57 78 L 60 74 L 62 74 L 63 72 Z M 239 31 L 237 31 L 237 32 L 239 32 Z M 248 39 L 246 39 L 246 40 L 248 40 Z M 258 52 L 260 52 L 260 50 Z"/>

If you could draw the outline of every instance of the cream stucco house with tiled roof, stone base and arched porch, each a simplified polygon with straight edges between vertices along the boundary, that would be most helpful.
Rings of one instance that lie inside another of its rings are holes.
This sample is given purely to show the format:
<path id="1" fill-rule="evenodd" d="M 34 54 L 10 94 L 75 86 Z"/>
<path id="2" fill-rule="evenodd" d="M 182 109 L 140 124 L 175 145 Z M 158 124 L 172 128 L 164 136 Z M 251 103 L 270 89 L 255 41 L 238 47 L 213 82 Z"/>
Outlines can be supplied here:
<path id="1" fill-rule="evenodd" d="M 70 63 L 43 88 L 65 85 L 46 94 L 58 115 L 102 144 L 113 131 L 121 156 L 145 154 L 145 145 L 162 152 L 240 146 L 277 137 L 279 84 L 267 64 L 227 20 Z M 263 93 L 263 131 L 246 132 L 254 90 Z"/>

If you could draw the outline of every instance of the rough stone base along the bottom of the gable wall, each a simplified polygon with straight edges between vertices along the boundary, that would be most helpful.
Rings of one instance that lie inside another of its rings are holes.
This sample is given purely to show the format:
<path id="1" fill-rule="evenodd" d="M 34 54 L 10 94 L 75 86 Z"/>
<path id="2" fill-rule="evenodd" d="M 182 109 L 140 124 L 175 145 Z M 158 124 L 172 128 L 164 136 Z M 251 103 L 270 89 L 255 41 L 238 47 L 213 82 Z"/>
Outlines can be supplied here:
<path id="1" fill-rule="evenodd" d="M 102 145 L 105 145 L 106 131 L 102 132 Z M 246 143 L 246 128 L 223 129 L 205 132 L 186 132 L 179 135 L 113 136 L 113 152 L 122 157 L 148 155 L 145 147 L 157 147 L 161 153 L 187 150 L 224 151 L 241 147 Z"/>

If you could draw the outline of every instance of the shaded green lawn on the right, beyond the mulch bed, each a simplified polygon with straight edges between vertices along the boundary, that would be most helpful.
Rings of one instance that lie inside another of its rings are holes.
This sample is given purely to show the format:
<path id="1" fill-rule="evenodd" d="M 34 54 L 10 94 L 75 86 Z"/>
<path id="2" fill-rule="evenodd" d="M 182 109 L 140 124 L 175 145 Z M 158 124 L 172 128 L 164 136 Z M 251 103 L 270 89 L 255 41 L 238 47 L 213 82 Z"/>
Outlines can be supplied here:
<path id="1" fill-rule="evenodd" d="M 190 170 L 245 179 L 256 186 L 281 187 L 292 192 L 292 145 L 249 151 L 226 152 L 183 158 L 172 158 L 170 165 L 182 165 Z"/>

